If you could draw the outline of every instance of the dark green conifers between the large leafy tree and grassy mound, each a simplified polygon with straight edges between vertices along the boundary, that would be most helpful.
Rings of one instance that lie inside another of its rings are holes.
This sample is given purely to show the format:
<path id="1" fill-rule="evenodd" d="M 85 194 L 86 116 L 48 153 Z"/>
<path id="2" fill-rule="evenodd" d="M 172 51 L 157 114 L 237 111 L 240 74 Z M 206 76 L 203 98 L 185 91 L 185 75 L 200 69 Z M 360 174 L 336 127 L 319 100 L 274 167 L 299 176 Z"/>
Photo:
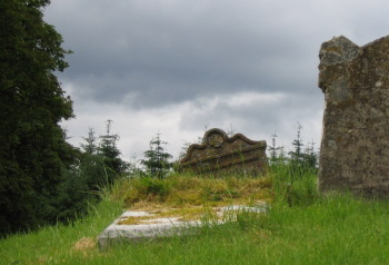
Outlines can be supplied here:
<path id="1" fill-rule="evenodd" d="M 111 120 L 107 122 L 107 134 L 100 137 L 89 128 L 88 137 L 83 138 L 86 144 L 78 154 L 79 163 L 66 170 L 67 177 L 57 199 L 59 220 L 70 222 L 87 214 L 89 206 L 100 200 L 102 188 L 126 173 L 128 164 L 120 158 L 116 146 L 119 136 L 110 132 L 111 124 Z"/>

